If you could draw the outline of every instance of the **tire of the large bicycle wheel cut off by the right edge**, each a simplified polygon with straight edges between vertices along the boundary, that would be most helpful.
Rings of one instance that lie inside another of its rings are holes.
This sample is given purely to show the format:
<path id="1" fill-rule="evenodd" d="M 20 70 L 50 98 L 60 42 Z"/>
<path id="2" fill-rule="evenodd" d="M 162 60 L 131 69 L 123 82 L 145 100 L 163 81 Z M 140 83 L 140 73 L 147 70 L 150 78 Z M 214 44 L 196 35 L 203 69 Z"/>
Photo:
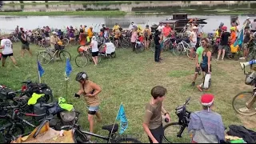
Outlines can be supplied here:
<path id="1" fill-rule="evenodd" d="M 251 115 L 254 115 L 254 114 L 256 114 L 256 110 L 254 110 L 254 112 L 253 113 L 251 113 L 251 114 L 247 114 L 247 113 L 243 113 L 242 111 L 240 111 L 240 110 L 238 110 L 237 108 L 236 108 L 236 106 L 235 106 L 235 103 L 236 103 L 236 99 L 237 98 L 242 98 L 242 97 L 244 97 L 242 94 L 250 94 L 251 96 L 253 96 L 253 92 L 252 91 L 242 91 L 241 93 L 238 93 L 237 95 L 235 95 L 234 96 L 234 98 L 233 98 L 233 100 L 232 100 L 232 107 L 233 107 L 233 109 L 234 109 L 234 111 L 235 112 L 237 112 L 238 114 L 242 114 L 242 115 L 245 115 L 245 116 L 251 116 Z M 249 98 L 250 99 L 250 98 Z M 247 100 L 246 102 L 248 102 L 249 100 Z M 239 99 L 238 100 L 238 102 L 242 102 L 241 101 L 241 99 Z M 243 104 L 243 106 L 245 107 L 246 106 L 246 102 L 242 102 Z M 241 105 L 239 105 L 239 106 L 241 106 Z M 253 106 L 256 106 L 256 103 L 254 102 L 254 105 Z M 255 107 L 254 107 L 254 109 L 255 109 Z"/>

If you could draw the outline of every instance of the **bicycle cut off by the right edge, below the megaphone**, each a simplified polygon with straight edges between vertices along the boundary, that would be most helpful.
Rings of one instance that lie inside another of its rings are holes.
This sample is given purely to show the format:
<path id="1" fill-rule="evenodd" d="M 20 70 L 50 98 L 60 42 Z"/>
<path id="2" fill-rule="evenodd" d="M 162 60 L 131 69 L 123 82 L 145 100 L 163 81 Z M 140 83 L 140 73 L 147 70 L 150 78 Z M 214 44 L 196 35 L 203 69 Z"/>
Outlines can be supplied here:
<path id="1" fill-rule="evenodd" d="M 252 65 L 250 66 L 250 70 L 251 69 L 252 69 Z M 250 78 L 250 80 L 252 80 L 252 82 L 249 85 L 254 86 L 254 88 L 252 91 L 243 91 L 235 95 L 232 100 L 232 107 L 234 111 L 237 112 L 238 114 L 251 116 L 256 114 L 256 102 L 254 102 L 249 112 L 242 112 L 240 109 L 246 107 L 246 103 L 251 102 L 253 98 L 256 96 L 256 78 L 250 76 L 252 72 L 246 73 L 245 67 L 243 68 L 243 70 L 244 70 L 244 74 L 246 74 L 246 78 Z"/>

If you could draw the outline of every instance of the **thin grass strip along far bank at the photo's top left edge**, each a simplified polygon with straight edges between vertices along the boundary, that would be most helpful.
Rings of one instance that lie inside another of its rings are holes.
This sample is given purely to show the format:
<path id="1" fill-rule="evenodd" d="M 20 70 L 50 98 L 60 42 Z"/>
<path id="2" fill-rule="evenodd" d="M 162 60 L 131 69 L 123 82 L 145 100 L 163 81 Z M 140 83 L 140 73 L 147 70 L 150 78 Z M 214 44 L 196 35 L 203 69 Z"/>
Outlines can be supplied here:
<path id="1" fill-rule="evenodd" d="M 30 2 L 30 3 L 5 3 L 6 6 L 18 6 L 18 5 L 121 5 L 121 4 L 131 4 L 131 1 L 99 1 L 99 2 L 86 2 L 86 1 L 76 1 L 76 2 Z"/>

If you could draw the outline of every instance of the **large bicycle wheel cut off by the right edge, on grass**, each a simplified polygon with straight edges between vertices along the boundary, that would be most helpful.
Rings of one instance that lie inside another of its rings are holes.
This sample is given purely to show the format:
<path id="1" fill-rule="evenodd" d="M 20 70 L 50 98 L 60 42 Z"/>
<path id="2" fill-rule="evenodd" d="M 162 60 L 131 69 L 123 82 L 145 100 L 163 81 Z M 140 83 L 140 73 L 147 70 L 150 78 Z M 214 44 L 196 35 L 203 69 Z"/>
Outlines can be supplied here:
<path id="1" fill-rule="evenodd" d="M 254 102 L 252 108 L 250 110 L 243 111 L 242 109 L 246 108 L 246 102 L 249 102 L 254 97 L 254 93 L 252 91 L 243 91 L 236 96 L 234 96 L 232 101 L 232 106 L 234 111 L 238 114 L 250 116 L 256 114 L 256 102 Z"/>

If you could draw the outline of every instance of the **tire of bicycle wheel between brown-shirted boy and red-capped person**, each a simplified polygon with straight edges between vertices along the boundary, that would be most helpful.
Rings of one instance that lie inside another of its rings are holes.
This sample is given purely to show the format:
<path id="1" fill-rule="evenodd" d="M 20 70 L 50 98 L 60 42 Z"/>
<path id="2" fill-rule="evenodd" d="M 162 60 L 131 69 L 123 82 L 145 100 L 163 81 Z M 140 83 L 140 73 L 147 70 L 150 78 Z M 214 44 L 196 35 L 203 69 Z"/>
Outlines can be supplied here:
<path id="1" fill-rule="evenodd" d="M 172 122 L 172 123 L 166 124 L 166 126 L 163 126 L 163 130 L 164 130 L 163 140 L 168 143 L 174 143 L 174 142 L 176 142 L 175 140 L 178 138 L 177 133 L 179 130 L 181 130 L 181 128 L 179 128 L 178 131 L 175 131 L 175 132 L 177 132 L 176 134 L 170 134 L 173 137 L 169 138 L 166 136 L 166 131 L 167 131 L 166 129 L 169 128 L 170 126 L 182 126 L 182 125 L 180 125 L 178 122 Z M 182 134 L 184 134 L 184 131 L 182 132 Z M 183 139 L 185 139 L 185 138 L 183 138 Z M 181 140 L 181 139 L 179 138 L 179 140 Z M 180 142 L 178 142 L 178 143 L 180 143 Z M 182 143 L 188 143 L 188 142 L 182 142 Z"/>

